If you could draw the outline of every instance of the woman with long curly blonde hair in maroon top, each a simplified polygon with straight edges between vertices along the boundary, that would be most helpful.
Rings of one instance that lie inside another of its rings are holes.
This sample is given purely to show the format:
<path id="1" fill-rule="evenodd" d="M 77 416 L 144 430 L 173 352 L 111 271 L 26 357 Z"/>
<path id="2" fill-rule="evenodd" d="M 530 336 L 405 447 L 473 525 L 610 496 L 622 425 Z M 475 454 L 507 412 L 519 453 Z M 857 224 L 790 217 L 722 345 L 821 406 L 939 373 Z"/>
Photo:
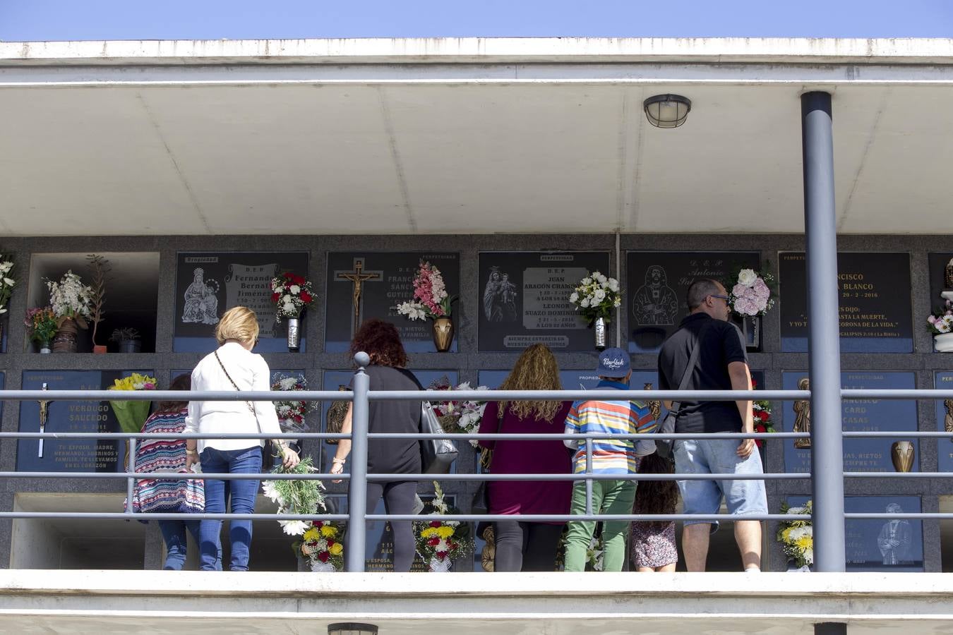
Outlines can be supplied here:
<path id="1" fill-rule="evenodd" d="M 526 348 L 500 390 L 560 390 L 559 367 L 553 352 L 542 344 Z M 571 402 L 489 402 L 480 423 L 481 434 L 562 434 Z M 481 440 L 493 450 L 490 471 L 498 474 L 569 474 L 572 464 L 565 447 L 554 441 Z M 491 514 L 564 514 L 573 485 L 570 481 L 491 481 L 487 483 Z M 552 571 L 564 523 L 494 523 L 496 571 Z"/>

